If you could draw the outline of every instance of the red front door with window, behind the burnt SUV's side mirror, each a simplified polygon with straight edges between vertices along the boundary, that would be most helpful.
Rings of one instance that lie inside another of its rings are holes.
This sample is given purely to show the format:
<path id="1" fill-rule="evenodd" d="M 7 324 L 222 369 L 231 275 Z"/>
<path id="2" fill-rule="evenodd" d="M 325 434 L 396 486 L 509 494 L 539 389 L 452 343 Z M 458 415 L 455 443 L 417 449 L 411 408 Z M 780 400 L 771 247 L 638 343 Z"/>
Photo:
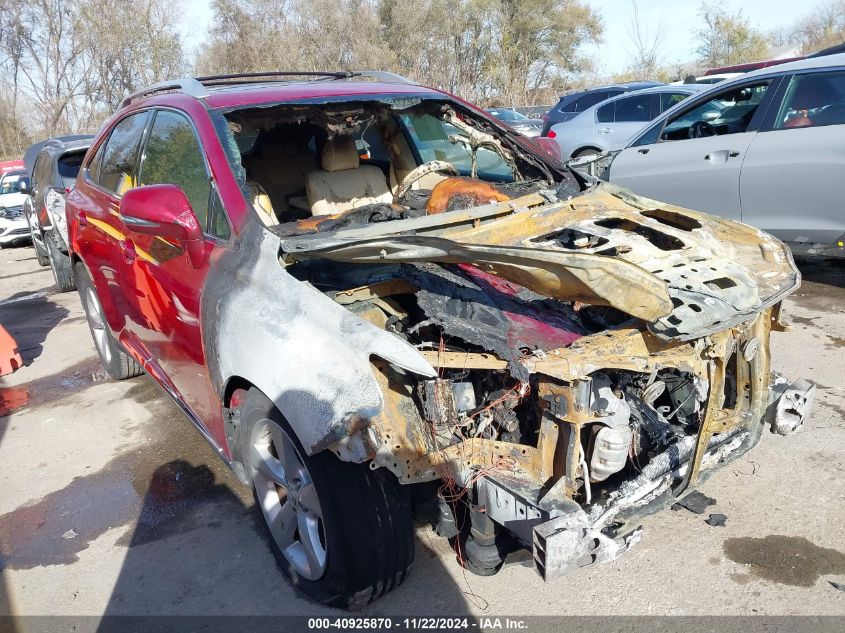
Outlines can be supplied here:
<path id="1" fill-rule="evenodd" d="M 129 338 L 150 359 L 148 371 L 175 390 L 225 447 L 220 402 L 206 372 L 199 310 L 208 263 L 226 241 L 210 234 L 210 201 L 217 194 L 199 137 L 190 119 L 175 110 L 155 111 L 141 151 L 139 185 L 155 184 L 184 191 L 206 229 L 205 256 L 192 263 L 178 241 L 133 231 L 127 223 L 121 251 L 123 291 L 131 296 Z"/>

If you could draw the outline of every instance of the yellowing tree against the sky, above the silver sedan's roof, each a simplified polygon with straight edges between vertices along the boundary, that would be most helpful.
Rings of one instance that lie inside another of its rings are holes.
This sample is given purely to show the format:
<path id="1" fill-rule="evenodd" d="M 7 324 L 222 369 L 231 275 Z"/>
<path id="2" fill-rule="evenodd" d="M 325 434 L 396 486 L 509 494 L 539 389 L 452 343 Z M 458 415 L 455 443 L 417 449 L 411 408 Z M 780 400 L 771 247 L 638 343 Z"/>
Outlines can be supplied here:
<path id="1" fill-rule="evenodd" d="M 704 0 L 699 7 L 703 26 L 693 31 L 694 52 L 704 66 L 728 66 L 764 59 L 769 40 L 738 10 L 731 13 L 724 0 Z"/>

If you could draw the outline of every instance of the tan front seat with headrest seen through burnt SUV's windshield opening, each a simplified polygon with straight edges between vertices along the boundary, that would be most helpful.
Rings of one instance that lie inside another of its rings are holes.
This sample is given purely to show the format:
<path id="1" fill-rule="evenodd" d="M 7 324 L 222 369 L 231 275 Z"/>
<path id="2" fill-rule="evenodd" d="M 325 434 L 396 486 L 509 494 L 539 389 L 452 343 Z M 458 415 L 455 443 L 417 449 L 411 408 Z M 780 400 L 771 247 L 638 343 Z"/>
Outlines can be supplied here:
<path id="1" fill-rule="evenodd" d="M 351 136 L 327 141 L 320 162 L 323 168 L 305 179 L 312 215 L 342 213 L 367 204 L 393 201 L 384 172 L 373 165 L 359 164 L 358 149 Z"/>

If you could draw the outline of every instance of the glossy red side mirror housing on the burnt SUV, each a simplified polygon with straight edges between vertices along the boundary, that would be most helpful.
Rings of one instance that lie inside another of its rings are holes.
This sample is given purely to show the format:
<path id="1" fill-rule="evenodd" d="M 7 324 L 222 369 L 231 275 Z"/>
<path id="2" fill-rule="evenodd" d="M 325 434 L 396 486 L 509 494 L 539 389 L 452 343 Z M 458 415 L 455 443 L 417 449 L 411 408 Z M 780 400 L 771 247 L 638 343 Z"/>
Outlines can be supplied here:
<path id="1" fill-rule="evenodd" d="M 205 263 L 205 245 L 196 213 L 176 185 L 130 189 L 120 199 L 120 219 L 135 233 L 175 240 L 194 268 Z"/>

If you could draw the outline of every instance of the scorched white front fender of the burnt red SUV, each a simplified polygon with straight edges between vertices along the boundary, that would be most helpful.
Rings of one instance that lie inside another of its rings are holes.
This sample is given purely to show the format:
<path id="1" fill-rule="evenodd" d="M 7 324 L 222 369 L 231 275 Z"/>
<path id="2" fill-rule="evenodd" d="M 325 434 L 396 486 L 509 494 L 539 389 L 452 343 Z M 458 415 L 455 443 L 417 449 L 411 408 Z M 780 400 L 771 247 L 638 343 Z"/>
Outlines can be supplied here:
<path id="1" fill-rule="evenodd" d="M 314 454 L 377 416 L 378 356 L 435 376 L 413 347 L 285 271 L 279 238 L 253 223 L 209 271 L 202 324 L 218 394 L 241 376 L 272 400 Z"/>

